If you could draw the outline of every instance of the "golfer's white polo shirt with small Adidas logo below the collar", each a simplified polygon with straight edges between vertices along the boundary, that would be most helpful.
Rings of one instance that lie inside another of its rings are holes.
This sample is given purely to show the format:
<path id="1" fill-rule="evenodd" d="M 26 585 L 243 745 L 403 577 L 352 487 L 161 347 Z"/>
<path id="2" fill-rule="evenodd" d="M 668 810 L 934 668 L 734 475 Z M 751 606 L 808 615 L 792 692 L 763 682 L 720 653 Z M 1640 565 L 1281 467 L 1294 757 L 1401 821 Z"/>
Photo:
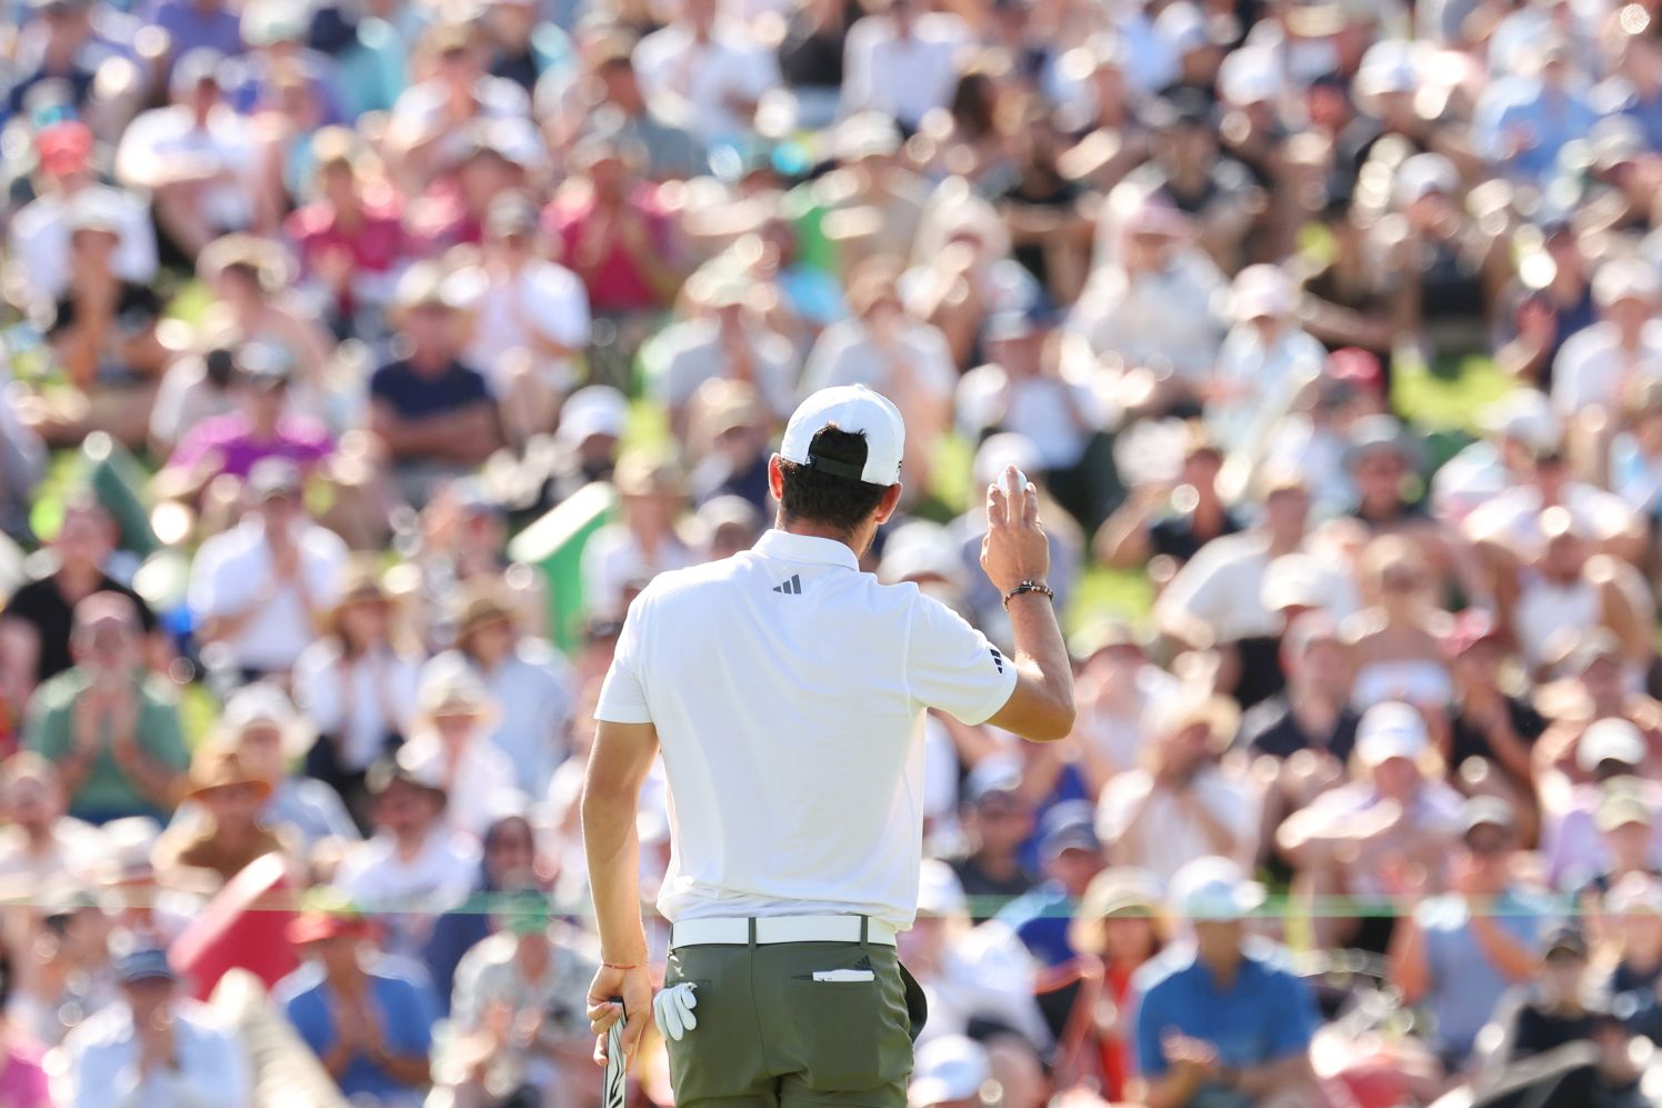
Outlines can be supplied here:
<path id="1" fill-rule="evenodd" d="M 655 724 L 670 920 L 917 910 L 924 709 L 966 724 L 1015 690 L 986 636 L 833 539 L 770 531 L 660 574 L 630 606 L 595 719 Z"/>

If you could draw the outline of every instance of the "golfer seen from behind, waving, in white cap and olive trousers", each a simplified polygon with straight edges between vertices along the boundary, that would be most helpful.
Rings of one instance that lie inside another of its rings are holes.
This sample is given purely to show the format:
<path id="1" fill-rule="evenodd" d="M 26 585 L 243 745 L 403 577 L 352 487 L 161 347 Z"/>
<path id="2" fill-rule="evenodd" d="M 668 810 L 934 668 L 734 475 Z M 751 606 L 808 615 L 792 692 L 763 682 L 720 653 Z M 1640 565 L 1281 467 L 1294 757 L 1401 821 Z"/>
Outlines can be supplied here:
<path id="1" fill-rule="evenodd" d="M 1014 659 L 916 586 L 859 571 L 901 499 L 904 439 L 878 393 L 814 393 L 768 466 L 774 529 L 660 574 L 623 624 L 582 809 L 605 960 L 588 1015 L 603 1060 L 620 1015 L 607 998 L 623 998 L 627 1055 L 653 1007 L 635 810 L 661 749 L 671 935 L 656 1015 L 680 1108 L 902 1108 L 922 995 L 894 935 L 917 908 L 921 717 L 1037 740 L 1072 729 L 1049 546 L 1014 469 L 987 489 L 981 552 Z"/>

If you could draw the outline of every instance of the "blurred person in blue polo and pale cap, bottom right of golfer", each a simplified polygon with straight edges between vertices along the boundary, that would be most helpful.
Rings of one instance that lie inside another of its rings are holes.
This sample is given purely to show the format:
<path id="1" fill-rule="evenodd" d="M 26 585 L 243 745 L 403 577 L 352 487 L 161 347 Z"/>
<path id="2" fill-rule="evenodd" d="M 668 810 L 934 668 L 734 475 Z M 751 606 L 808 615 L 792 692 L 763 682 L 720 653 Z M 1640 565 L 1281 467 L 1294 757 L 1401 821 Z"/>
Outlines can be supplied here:
<path id="1" fill-rule="evenodd" d="M 1228 858 L 1195 858 L 1172 878 L 1193 943 L 1133 982 L 1135 1100 L 1150 1108 L 1321 1103 L 1310 1070 L 1316 1007 L 1281 953 L 1246 932 L 1263 888 Z"/>

